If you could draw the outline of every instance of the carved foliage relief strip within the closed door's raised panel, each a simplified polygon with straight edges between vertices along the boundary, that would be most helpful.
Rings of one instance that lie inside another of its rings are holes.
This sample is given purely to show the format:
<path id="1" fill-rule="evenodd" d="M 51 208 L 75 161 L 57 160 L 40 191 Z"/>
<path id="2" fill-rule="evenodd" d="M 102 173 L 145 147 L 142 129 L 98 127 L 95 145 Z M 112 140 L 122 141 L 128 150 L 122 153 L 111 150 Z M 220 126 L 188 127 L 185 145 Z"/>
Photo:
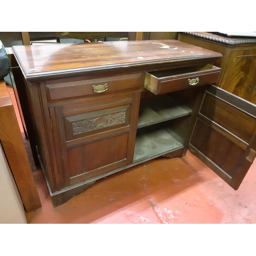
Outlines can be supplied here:
<path id="1" fill-rule="evenodd" d="M 73 134 L 81 134 L 125 122 L 125 111 L 72 122 Z"/>

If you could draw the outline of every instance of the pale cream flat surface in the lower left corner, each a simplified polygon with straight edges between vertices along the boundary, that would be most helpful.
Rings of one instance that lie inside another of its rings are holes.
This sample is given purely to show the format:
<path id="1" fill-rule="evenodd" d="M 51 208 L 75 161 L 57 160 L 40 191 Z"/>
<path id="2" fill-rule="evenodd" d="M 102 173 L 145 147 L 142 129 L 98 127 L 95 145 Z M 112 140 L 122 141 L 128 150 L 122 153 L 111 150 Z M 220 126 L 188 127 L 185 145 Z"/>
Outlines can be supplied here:
<path id="1" fill-rule="evenodd" d="M 0 142 L 0 223 L 27 223 L 25 210 Z"/>

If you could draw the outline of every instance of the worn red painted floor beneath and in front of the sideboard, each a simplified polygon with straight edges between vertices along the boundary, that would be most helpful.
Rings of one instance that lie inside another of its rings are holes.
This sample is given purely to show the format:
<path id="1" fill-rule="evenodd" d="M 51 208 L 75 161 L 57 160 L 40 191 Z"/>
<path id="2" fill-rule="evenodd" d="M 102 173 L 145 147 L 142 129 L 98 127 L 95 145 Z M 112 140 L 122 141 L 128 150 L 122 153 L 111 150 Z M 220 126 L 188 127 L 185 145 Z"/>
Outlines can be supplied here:
<path id="1" fill-rule="evenodd" d="M 237 191 L 188 152 L 101 179 L 53 207 L 24 141 L 42 203 L 26 214 L 28 223 L 256 223 L 256 161 Z"/>

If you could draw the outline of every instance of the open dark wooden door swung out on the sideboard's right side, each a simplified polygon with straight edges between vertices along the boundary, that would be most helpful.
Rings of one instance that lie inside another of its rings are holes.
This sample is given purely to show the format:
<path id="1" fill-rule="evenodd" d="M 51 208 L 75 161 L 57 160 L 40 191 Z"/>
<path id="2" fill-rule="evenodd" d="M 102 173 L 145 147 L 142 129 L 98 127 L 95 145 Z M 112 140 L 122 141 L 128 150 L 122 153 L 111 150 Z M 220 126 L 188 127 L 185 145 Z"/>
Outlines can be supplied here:
<path id="1" fill-rule="evenodd" d="M 209 86 L 188 149 L 237 190 L 256 156 L 256 106 Z"/>

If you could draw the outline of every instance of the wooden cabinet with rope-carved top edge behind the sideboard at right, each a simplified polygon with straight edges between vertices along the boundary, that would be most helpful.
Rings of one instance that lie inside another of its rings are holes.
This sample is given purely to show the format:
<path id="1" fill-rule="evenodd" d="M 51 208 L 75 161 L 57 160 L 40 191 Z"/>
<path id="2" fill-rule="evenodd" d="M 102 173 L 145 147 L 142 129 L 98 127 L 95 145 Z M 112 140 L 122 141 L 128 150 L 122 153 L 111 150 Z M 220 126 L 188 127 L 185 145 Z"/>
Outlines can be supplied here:
<path id="1" fill-rule="evenodd" d="M 223 55 L 217 86 L 256 104 L 256 38 L 224 37 L 207 32 L 179 33 L 178 40 Z"/>

